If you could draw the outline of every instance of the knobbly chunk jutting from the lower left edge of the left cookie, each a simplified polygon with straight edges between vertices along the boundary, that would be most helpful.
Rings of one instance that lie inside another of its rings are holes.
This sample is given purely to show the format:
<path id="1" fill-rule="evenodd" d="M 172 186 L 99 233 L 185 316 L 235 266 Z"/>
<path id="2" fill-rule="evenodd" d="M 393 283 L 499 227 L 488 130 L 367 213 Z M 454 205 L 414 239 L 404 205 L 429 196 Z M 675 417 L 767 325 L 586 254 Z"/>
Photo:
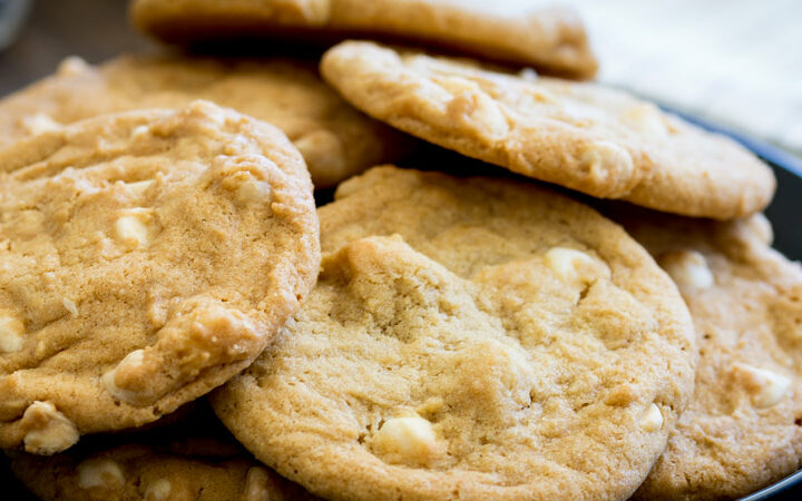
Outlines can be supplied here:
<path id="1" fill-rule="evenodd" d="M 78 442 L 78 429 L 50 402 L 33 402 L 21 420 L 26 451 L 50 455 Z"/>

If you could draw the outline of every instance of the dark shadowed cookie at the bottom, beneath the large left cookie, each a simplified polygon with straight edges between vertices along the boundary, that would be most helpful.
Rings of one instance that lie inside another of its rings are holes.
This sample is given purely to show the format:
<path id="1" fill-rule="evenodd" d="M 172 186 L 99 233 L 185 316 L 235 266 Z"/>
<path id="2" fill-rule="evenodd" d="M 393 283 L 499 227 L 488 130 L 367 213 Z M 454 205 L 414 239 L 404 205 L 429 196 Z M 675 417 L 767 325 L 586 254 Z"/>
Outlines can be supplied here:
<path id="1" fill-rule="evenodd" d="M 17 453 L 11 469 L 45 501 L 315 499 L 258 463 L 234 439 L 214 431 L 187 433 L 187 424 L 155 436 L 102 436 L 52 456 Z"/>

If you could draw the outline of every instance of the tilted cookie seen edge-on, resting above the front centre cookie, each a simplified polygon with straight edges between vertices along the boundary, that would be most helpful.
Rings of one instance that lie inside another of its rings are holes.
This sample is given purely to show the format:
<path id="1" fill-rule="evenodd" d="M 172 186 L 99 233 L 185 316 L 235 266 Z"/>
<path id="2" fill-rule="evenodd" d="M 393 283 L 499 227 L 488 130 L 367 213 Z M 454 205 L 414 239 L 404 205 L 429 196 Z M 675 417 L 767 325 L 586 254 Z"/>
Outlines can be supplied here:
<path id="1" fill-rule="evenodd" d="M 772 170 L 723 136 L 593 84 L 344 42 L 323 77 L 358 108 L 428 141 L 600 198 L 726 219 L 761 210 Z"/>

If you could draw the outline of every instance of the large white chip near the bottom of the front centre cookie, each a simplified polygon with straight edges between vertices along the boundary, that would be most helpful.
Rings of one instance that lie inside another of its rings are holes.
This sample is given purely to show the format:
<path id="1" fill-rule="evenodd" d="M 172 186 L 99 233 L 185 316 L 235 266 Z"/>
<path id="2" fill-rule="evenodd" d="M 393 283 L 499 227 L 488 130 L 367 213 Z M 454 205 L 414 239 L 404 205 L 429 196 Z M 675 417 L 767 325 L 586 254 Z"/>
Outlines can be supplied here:
<path id="1" fill-rule="evenodd" d="M 414 462 L 424 461 L 431 455 L 436 442 L 431 423 L 417 415 L 385 421 L 373 438 L 378 449 Z"/>

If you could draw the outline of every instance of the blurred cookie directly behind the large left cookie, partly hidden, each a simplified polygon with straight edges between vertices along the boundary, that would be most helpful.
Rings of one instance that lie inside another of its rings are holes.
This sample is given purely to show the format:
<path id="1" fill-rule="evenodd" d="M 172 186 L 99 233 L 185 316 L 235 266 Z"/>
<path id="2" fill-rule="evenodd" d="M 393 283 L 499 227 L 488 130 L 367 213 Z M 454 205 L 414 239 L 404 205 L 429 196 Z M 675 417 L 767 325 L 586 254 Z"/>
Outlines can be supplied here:
<path id="1" fill-rule="evenodd" d="M 343 101 L 303 61 L 121 56 L 97 68 L 77 58 L 0 101 L 0 147 L 107 112 L 184 107 L 195 99 L 281 128 L 325 188 L 409 149 L 410 141 Z"/>

